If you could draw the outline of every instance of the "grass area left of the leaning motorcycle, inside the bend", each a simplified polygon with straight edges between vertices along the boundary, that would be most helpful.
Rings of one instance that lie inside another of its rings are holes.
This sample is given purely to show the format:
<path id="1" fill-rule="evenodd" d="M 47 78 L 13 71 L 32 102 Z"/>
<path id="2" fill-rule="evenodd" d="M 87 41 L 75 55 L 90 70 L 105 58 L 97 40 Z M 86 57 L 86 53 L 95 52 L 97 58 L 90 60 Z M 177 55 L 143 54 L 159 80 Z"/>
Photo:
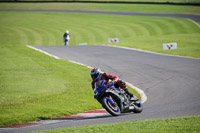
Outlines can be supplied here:
<path id="1" fill-rule="evenodd" d="M 0 126 L 101 108 L 90 69 L 25 46 L 0 48 Z"/>

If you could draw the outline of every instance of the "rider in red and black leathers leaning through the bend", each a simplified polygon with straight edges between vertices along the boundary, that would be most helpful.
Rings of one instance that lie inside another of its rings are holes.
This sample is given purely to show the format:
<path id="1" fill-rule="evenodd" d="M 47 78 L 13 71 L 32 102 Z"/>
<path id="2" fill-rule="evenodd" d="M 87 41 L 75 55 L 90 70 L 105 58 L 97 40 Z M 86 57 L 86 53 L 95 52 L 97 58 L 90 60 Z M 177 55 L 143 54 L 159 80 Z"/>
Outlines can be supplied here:
<path id="1" fill-rule="evenodd" d="M 116 88 L 120 87 L 124 89 L 124 91 L 131 97 L 130 100 L 132 101 L 138 101 L 139 99 L 133 95 L 132 92 L 130 92 L 126 86 L 126 83 L 122 80 L 120 80 L 117 76 L 108 74 L 108 73 L 102 73 L 99 68 L 93 68 L 90 73 L 92 77 L 92 88 L 94 90 L 94 84 L 98 80 L 106 80 L 106 84 L 109 83 L 109 80 L 114 81 L 114 85 Z"/>

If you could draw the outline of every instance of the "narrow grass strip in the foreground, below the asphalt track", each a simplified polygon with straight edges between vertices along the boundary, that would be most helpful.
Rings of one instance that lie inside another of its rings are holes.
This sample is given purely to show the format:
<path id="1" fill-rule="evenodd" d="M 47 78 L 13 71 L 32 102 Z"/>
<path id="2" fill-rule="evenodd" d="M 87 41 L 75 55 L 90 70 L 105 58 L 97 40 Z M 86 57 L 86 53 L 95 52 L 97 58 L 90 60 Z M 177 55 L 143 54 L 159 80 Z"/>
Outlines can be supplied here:
<path id="1" fill-rule="evenodd" d="M 33 133 L 198 133 L 200 116 L 70 127 Z"/>

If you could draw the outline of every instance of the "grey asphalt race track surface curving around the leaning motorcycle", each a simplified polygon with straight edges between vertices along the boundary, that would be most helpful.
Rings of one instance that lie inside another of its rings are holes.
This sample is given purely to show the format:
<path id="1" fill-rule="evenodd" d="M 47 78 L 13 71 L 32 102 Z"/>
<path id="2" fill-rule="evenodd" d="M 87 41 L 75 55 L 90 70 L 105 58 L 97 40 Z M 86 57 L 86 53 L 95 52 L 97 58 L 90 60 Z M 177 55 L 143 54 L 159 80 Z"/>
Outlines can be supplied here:
<path id="1" fill-rule="evenodd" d="M 42 10 L 32 11 L 41 12 Z M 49 11 L 56 12 L 53 10 Z M 113 14 L 113 12 L 95 11 L 73 12 Z M 118 13 L 117 15 L 134 15 Z M 166 16 L 169 17 L 169 15 Z M 181 14 L 180 16 L 177 15 L 173 14 L 171 17 L 184 16 Z M 153 16 L 162 16 L 162 14 L 154 14 Z M 192 19 L 198 24 L 200 22 L 199 15 L 185 15 L 184 18 Z M 54 55 L 59 59 L 79 62 L 91 67 L 99 67 L 105 72 L 117 75 L 121 79 L 142 89 L 148 100 L 144 103 L 144 110 L 140 114 L 125 114 L 119 117 L 104 115 L 82 119 L 63 119 L 56 123 L 23 128 L 8 128 L 0 130 L 0 132 L 22 133 L 121 121 L 200 115 L 199 58 L 171 56 L 106 45 L 33 47 Z"/>

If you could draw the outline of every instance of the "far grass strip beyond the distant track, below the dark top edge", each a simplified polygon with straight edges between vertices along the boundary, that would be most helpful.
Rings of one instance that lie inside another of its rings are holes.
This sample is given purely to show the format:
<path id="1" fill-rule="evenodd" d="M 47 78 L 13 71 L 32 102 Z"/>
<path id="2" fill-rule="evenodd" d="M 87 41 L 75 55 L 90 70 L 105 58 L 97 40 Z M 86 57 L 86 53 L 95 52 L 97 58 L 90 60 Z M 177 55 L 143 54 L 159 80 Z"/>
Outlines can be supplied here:
<path id="1" fill-rule="evenodd" d="M 200 14 L 199 6 L 149 5 L 149 4 L 89 4 L 89 3 L 1 3 L 0 9 L 54 9 L 97 10 L 145 13 Z"/>

